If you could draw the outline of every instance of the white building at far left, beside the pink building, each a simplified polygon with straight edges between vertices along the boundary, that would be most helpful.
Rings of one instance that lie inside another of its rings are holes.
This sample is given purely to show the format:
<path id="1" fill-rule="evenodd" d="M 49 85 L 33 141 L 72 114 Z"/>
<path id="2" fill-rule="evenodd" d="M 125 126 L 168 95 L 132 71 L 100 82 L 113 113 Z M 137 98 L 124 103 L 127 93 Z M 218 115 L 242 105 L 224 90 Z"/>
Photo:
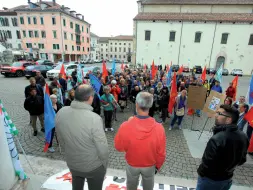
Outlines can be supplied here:
<path id="1" fill-rule="evenodd" d="M 7 49 L 21 49 L 17 13 L 12 9 L 0 10 L 0 43 Z"/>

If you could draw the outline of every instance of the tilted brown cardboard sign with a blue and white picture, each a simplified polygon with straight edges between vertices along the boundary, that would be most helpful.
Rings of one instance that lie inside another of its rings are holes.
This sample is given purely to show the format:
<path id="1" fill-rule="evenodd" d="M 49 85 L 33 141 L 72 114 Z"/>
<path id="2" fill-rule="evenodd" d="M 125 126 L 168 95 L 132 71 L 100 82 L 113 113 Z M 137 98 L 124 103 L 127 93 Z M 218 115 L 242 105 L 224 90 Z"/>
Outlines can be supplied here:
<path id="1" fill-rule="evenodd" d="M 212 90 L 206 100 L 206 104 L 204 106 L 203 111 L 209 114 L 210 117 L 214 117 L 216 114 L 216 110 L 220 107 L 221 104 L 224 104 L 225 98 L 225 94 L 221 94 Z"/>

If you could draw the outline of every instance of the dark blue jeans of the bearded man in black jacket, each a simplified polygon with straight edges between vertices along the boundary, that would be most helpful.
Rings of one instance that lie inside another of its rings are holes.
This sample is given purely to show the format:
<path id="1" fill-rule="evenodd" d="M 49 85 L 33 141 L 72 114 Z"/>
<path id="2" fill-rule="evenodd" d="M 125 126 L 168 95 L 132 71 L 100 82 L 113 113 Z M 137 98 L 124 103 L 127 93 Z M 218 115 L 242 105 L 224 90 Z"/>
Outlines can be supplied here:
<path id="1" fill-rule="evenodd" d="M 232 186 L 232 179 L 214 181 L 207 177 L 198 177 L 196 190 L 229 190 Z"/>

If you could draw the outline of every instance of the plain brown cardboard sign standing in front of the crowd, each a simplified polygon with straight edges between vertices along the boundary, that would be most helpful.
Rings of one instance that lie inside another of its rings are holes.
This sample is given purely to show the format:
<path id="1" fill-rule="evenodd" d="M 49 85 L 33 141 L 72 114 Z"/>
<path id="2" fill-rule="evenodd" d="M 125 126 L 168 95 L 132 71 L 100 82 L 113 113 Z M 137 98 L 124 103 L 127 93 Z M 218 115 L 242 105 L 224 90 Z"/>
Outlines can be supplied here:
<path id="1" fill-rule="evenodd" d="M 206 102 L 207 89 L 204 86 L 189 86 L 187 107 L 202 110 Z"/>

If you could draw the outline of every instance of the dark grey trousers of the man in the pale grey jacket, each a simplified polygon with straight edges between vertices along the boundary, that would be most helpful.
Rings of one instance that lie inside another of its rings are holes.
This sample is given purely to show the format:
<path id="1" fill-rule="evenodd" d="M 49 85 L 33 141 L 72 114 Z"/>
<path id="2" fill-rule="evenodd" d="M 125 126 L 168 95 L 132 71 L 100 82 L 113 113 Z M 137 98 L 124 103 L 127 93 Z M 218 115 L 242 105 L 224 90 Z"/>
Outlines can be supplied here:
<path id="1" fill-rule="evenodd" d="M 102 190 L 106 169 L 104 166 L 91 171 L 79 172 L 70 169 L 72 174 L 72 190 L 83 190 L 87 179 L 89 190 Z"/>

